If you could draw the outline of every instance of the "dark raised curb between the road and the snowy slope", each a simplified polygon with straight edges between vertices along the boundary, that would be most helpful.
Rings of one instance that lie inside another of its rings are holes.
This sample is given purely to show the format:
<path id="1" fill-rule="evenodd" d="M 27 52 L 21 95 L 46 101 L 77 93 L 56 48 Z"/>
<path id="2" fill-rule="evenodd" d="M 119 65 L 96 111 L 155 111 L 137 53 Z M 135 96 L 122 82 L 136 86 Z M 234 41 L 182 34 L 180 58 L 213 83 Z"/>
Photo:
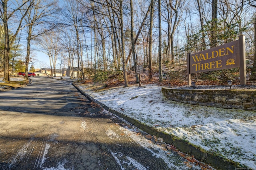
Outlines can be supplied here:
<path id="1" fill-rule="evenodd" d="M 205 152 L 205 151 L 201 150 L 200 148 L 198 148 L 194 145 L 191 145 L 190 143 L 188 143 L 186 141 L 177 139 L 174 135 L 170 135 L 170 134 L 166 134 L 166 133 L 163 133 L 161 131 L 158 131 L 157 129 L 155 129 L 153 127 L 150 127 L 148 125 L 145 125 L 145 124 L 139 122 L 136 119 L 133 119 L 133 118 L 128 117 L 127 115 L 124 115 L 124 114 L 122 114 L 122 113 L 120 113 L 116 110 L 113 110 L 110 107 L 106 106 L 105 104 L 102 104 L 98 100 L 95 100 L 94 98 L 92 98 L 92 96 L 90 96 L 90 95 L 86 94 L 85 92 L 83 92 L 82 90 L 80 90 L 80 88 L 78 88 L 78 86 L 76 86 L 76 84 L 72 83 L 72 85 L 81 94 L 88 97 L 91 101 L 99 104 L 100 106 L 102 106 L 107 111 L 110 111 L 111 113 L 117 115 L 118 117 L 122 117 L 123 119 L 125 119 L 126 121 L 131 123 L 132 125 L 138 127 L 139 129 L 141 129 L 142 131 L 144 131 L 144 132 L 146 132 L 150 135 L 155 135 L 158 138 L 164 139 L 165 143 L 170 144 L 170 145 L 174 145 L 181 152 L 184 152 L 184 153 L 189 154 L 189 155 L 193 155 L 194 158 L 196 158 L 197 160 L 199 160 L 201 162 L 204 162 L 206 164 L 209 164 L 213 168 L 216 168 L 216 169 L 219 169 L 219 170 L 237 170 L 237 169 L 241 169 L 241 166 L 239 166 L 239 164 L 236 163 L 236 162 L 232 162 L 231 160 L 227 160 L 227 159 L 222 158 L 220 156 L 216 156 L 213 153 Z"/>

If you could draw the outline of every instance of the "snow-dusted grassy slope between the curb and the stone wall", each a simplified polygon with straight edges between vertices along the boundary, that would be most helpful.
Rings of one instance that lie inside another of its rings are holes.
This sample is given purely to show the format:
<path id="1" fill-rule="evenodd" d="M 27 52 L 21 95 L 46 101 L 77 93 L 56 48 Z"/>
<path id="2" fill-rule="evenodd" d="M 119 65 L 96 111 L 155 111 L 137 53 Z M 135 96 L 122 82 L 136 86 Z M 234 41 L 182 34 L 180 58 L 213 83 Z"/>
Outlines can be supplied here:
<path id="1" fill-rule="evenodd" d="M 204 150 L 256 169 L 256 111 L 221 109 L 166 100 L 160 86 L 117 87 L 94 92 L 106 106 Z"/>

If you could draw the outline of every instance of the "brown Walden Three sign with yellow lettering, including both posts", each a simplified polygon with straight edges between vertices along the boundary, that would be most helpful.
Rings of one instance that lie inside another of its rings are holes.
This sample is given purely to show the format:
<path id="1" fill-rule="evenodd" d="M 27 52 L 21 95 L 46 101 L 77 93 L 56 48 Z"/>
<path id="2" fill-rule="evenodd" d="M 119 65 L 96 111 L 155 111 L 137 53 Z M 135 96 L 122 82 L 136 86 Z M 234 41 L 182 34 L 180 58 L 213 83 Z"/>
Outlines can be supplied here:
<path id="1" fill-rule="evenodd" d="M 188 85 L 191 85 L 192 73 L 236 67 L 240 68 L 240 84 L 246 84 L 244 35 L 240 35 L 239 40 L 231 43 L 199 53 L 188 53 Z"/>

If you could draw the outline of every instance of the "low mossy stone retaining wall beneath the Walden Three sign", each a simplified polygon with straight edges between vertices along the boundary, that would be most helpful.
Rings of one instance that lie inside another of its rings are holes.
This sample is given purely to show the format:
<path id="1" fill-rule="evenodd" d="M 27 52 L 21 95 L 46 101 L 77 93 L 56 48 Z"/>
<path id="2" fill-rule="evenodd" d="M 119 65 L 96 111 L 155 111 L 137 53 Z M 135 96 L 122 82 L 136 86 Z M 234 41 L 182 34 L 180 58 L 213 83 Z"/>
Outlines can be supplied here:
<path id="1" fill-rule="evenodd" d="M 202 90 L 162 88 L 168 100 L 226 109 L 256 110 L 256 90 Z"/>

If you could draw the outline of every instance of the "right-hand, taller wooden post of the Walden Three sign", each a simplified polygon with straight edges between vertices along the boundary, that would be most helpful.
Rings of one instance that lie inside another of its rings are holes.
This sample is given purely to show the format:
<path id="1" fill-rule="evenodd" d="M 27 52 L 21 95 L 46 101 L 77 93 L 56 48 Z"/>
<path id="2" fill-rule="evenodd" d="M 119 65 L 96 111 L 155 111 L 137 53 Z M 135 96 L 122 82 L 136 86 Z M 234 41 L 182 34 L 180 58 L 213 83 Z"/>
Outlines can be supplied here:
<path id="1" fill-rule="evenodd" d="M 245 36 L 239 36 L 240 84 L 246 85 Z"/>

